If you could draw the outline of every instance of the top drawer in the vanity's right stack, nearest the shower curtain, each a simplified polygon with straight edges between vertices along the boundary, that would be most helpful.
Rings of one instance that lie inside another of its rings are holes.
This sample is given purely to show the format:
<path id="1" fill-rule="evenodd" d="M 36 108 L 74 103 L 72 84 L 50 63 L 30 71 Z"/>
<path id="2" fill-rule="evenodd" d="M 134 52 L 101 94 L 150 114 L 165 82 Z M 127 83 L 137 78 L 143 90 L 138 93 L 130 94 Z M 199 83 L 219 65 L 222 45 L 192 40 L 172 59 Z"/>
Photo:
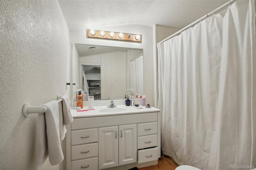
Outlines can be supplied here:
<path id="1" fill-rule="evenodd" d="M 138 136 L 145 136 L 157 133 L 157 122 L 140 123 L 137 126 Z"/>

